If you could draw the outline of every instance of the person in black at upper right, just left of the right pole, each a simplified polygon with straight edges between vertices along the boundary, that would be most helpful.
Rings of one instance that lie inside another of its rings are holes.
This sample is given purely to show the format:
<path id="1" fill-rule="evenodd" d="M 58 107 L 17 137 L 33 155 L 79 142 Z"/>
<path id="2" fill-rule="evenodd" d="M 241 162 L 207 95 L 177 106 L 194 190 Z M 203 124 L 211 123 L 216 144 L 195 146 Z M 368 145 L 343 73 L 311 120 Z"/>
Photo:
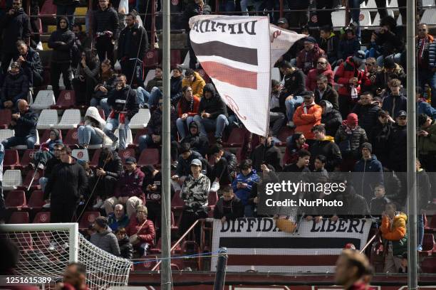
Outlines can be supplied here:
<path id="1" fill-rule="evenodd" d="M 400 58 L 404 44 L 400 36 L 397 36 L 397 21 L 392 16 L 380 19 L 380 28 L 373 32 L 371 43 L 378 45 L 381 55 L 377 58 L 378 65 L 383 65 L 383 59 L 389 55 L 394 60 Z"/>

